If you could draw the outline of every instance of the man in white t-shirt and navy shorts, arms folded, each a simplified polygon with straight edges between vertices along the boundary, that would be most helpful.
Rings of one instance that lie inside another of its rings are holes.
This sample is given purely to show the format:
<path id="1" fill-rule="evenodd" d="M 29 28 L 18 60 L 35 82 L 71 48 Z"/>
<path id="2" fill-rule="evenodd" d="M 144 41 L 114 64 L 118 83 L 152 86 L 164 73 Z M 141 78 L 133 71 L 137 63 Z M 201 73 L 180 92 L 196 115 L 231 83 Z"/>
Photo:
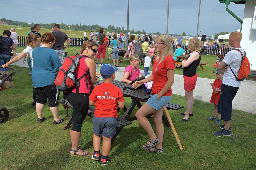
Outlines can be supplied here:
<path id="1" fill-rule="evenodd" d="M 231 32 L 229 35 L 229 44 L 233 46 L 234 49 L 240 50 L 244 55 L 244 50 L 240 46 L 240 41 L 242 39 L 241 32 Z M 217 69 L 225 71 L 220 99 L 218 102 L 218 113 L 221 114 L 221 119 L 224 120 L 224 125 L 220 125 L 221 131 L 215 132 L 216 136 L 231 136 L 231 114 L 232 114 L 232 100 L 236 96 L 236 93 L 240 87 L 240 82 L 236 80 L 238 71 L 241 67 L 242 55 L 239 51 L 232 50 L 229 51 L 224 59 L 220 62 Z M 232 73 L 233 70 L 234 74 Z"/>

